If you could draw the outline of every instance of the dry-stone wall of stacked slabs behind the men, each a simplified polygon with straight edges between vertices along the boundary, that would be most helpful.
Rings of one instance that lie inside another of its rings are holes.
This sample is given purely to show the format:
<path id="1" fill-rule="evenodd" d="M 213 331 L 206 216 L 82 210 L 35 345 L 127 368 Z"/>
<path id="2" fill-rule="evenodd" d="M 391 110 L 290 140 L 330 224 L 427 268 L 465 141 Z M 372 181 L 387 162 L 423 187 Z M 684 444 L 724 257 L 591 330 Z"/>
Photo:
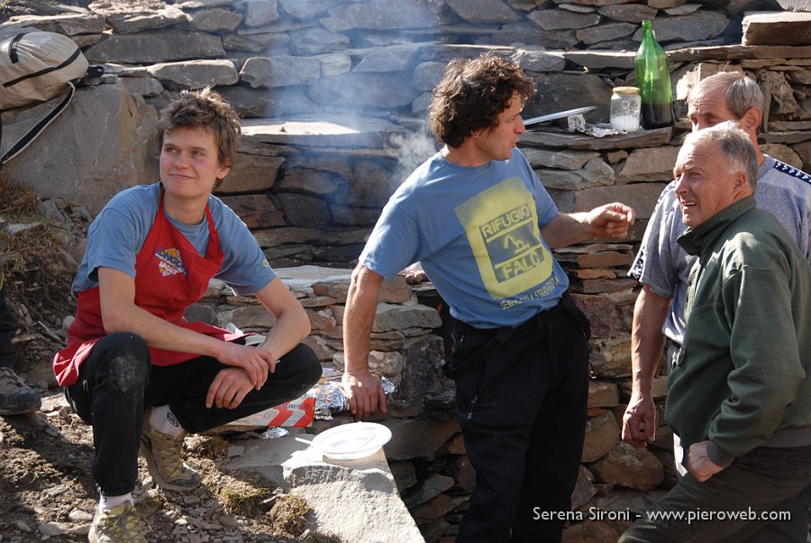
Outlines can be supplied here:
<path id="1" fill-rule="evenodd" d="M 74 3 L 76 4 L 76 3 Z M 105 76 L 86 81 L 68 111 L 9 162 L 5 179 L 96 213 L 115 192 L 157 179 L 150 144 L 156 108 L 180 88 L 214 85 L 244 115 L 243 144 L 220 196 L 248 224 L 307 309 L 308 342 L 325 368 L 342 368 L 342 308 L 351 267 L 391 192 L 435 150 L 422 124 L 447 60 L 495 51 L 538 82 L 525 116 L 597 106 L 607 121 L 611 88 L 633 84 L 640 22 L 653 18 L 668 49 L 675 95 L 718 69 L 743 69 L 769 98 L 764 150 L 811 170 L 811 46 L 790 1 L 735 0 L 157 0 L 90 5 L 25 2 L 0 38 L 30 25 L 70 35 Z M 795 2 L 793 6 L 797 6 Z M 5 12 L 6 14 L 8 12 Z M 787 24 L 792 32 L 786 32 Z M 777 25 L 777 31 L 775 27 Z M 783 29 L 780 31 L 780 29 Z M 805 37 L 803 37 L 805 36 Z M 797 41 L 800 40 L 800 41 Z M 804 41 L 803 41 L 804 40 Z M 3 114 L 5 141 L 50 104 Z M 683 113 L 683 104 L 677 103 Z M 689 126 L 597 139 L 553 124 L 524 134 L 524 153 L 562 211 L 609 201 L 639 220 L 617 244 L 557 251 L 592 322 L 586 450 L 580 511 L 642 511 L 673 483 L 669 439 L 634 450 L 619 440 L 630 383 L 635 281 L 625 272 Z M 387 282 L 373 337 L 373 366 L 396 382 L 396 439 L 387 447 L 406 503 L 429 541 L 451 540 L 473 474 L 451 394 L 442 380 L 442 322 L 430 288 Z M 213 286 L 193 318 L 262 331 L 272 321 L 250 299 Z M 329 372 L 327 372 L 329 373 Z M 663 377 L 656 380 L 659 398 Z M 574 522 L 569 541 L 613 541 L 624 522 Z"/>

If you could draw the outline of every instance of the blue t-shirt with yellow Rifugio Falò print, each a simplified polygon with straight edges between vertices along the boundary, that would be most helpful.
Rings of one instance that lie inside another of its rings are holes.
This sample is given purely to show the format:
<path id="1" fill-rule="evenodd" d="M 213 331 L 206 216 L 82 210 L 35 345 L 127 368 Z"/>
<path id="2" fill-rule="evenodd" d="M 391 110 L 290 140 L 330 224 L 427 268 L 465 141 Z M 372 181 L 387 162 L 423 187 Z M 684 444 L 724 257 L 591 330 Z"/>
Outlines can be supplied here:
<path id="1" fill-rule="evenodd" d="M 454 318 L 515 327 L 569 287 L 541 235 L 557 213 L 517 149 L 508 161 L 474 168 L 438 152 L 388 200 L 360 263 L 392 277 L 421 262 Z"/>

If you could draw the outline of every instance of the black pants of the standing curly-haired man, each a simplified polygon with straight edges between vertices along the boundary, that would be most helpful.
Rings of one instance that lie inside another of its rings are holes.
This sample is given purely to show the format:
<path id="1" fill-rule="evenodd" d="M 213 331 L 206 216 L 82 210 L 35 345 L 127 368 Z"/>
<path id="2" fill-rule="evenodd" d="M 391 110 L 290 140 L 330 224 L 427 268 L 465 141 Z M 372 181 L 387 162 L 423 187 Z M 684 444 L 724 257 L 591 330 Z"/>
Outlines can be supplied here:
<path id="1" fill-rule="evenodd" d="M 560 541 L 577 483 L 588 401 L 588 320 L 565 299 L 518 327 L 459 323 L 449 364 L 476 488 L 458 543 Z M 565 307 L 564 307 L 565 306 Z M 502 329 L 503 330 L 503 329 Z M 468 364 L 488 351 L 478 364 Z M 552 515 L 559 520 L 543 520 Z"/>

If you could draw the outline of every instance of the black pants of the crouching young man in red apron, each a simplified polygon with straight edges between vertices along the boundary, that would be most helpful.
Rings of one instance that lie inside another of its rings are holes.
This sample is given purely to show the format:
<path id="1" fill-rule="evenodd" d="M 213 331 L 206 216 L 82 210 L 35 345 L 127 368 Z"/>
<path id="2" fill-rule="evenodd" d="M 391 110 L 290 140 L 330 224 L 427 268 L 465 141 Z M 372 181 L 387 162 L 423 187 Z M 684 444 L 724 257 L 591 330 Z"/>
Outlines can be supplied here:
<path id="1" fill-rule="evenodd" d="M 147 345 L 129 333 L 111 334 L 96 344 L 65 395 L 77 415 L 93 426 L 93 477 L 102 493 L 117 496 L 135 488 L 145 409 L 169 404 L 187 432 L 199 433 L 293 400 L 321 377 L 312 349 L 297 345 L 239 407 L 206 408 L 208 387 L 225 367 L 209 356 L 153 366 Z"/>

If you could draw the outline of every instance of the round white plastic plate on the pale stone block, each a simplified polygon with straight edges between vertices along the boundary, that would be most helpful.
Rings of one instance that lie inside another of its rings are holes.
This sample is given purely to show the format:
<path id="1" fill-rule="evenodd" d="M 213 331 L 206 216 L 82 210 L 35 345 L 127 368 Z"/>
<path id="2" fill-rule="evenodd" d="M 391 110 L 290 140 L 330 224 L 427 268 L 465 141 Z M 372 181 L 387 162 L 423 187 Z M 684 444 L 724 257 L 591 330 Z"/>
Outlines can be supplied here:
<path id="1" fill-rule="evenodd" d="M 335 460 L 354 460 L 374 455 L 391 439 L 391 430 L 375 422 L 353 422 L 324 430 L 312 446 Z"/>

